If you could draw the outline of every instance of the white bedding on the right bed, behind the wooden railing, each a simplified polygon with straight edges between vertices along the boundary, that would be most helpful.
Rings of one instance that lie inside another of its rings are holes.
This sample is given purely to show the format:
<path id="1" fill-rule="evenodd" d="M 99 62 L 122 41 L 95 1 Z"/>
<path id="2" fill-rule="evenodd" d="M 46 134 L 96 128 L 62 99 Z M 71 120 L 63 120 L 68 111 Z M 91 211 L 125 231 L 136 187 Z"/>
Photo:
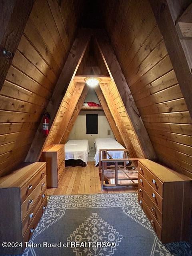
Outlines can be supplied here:
<path id="1" fill-rule="evenodd" d="M 112 148 L 120 149 L 120 148 L 124 148 L 124 147 L 113 138 L 96 138 L 95 139 L 96 154 L 94 157 L 95 165 L 97 165 L 99 162 L 99 150 L 100 149 L 112 149 Z M 112 158 L 115 158 L 115 159 L 123 158 L 123 156 L 124 156 L 124 151 L 109 151 L 108 153 L 112 156 Z M 108 155 L 107 155 L 107 158 L 109 158 Z M 102 159 L 102 156 L 101 156 L 101 159 Z"/>

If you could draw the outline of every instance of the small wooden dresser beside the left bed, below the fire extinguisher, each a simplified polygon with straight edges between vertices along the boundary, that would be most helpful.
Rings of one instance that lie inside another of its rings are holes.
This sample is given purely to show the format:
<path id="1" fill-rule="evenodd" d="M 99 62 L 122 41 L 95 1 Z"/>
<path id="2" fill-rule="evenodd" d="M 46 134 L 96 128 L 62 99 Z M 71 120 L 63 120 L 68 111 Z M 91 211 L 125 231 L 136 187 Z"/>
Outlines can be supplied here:
<path id="1" fill-rule="evenodd" d="M 65 169 L 64 145 L 47 146 L 42 152 L 40 161 L 47 163 L 47 187 L 57 188 L 58 181 Z"/>

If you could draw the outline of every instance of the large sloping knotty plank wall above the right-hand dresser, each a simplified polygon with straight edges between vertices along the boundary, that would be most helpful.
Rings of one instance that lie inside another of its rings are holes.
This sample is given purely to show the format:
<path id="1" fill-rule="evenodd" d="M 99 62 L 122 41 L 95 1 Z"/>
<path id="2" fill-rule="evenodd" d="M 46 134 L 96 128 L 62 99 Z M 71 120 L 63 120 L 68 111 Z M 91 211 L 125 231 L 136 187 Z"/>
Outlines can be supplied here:
<path id="1" fill-rule="evenodd" d="M 192 120 L 148 0 L 101 1 L 105 26 L 158 158 L 192 177 Z"/>

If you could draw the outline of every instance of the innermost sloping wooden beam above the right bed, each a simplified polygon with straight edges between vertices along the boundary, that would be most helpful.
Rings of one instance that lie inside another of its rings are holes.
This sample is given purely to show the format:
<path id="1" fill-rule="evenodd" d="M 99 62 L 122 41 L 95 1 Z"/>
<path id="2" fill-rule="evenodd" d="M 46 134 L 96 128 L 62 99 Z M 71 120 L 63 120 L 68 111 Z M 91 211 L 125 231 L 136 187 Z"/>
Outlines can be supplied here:
<path id="1" fill-rule="evenodd" d="M 105 115 L 106 115 L 106 118 L 107 118 L 107 120 L 108 120 L 108 122 L 109 122 L 109 124 L 110 124 L 111 130 L 112 130 L 112 132 L 114 133 L 114 136 L 115 136 L 116 140 L 117 140 L 120 144 L 122 144 L 123 146 L 125 146 L 124 141 L 122 140 L 122 137 L 121 137 L 120 132 L 119 132 L 119 130 L 118 130 L 118 127 L 116 126 L 116 123 L 115 123 L 115 121 L 114 121 L 114 119 L 113 119 L 113 116 L 112 116 L 112 114 L 111 114 L 111 112 L 110 112 L 108 106 L 107 106 L 106 100 L 105 100 L 105 98 L 104 98 L 104 96 L 103 96 L 103 94 L 102 94 L 102 91 L 101 91 L 101 89 L 100 89 L 99 86 L 97 86 L 97 87 L 95 88 L 95 92 L 96 92 L 96 94 L 97 94 L 97 96 L 98 96 L 98 99 L 99 99 L 99 101 L 100 101 L 100 103 L 101 103 L 101 105 L 102 105 L 102 107 L 103 107 L 104 113 L 105 113 Z"/>

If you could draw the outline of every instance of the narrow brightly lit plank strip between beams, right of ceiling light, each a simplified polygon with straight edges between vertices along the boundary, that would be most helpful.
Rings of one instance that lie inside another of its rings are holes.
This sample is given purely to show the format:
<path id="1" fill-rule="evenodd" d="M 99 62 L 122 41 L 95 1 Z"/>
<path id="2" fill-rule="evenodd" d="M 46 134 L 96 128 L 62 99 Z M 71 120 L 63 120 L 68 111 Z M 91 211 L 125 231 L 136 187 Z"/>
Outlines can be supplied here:
<path id="1" fill-rule="evenodd" d="M 124 107 L 122 99 L 118 93 L 116 84 L 113 81 L 111 81 L 110 84 L 108 84 L 108 88 L 110 91 L 110 95 L 112 96 L 112 98 L 114 100 L 114 102 L 113 102 L 114 107 L 116 108 L 117 112 L 119 113 L 120 120 L 122 122 L 121 125 L 124 126 L 124 128 L 127 132 L 127 137 L 130 138 L 130 141 L 134 147 L 134 150 L 136 151 L 138 158 L 144 158 L 144 154 L 142 152 L 142 149 L 140 147 L 138 139 L 135 135 L 135 132 L 134 132 L 132 125 L 130 123 L 130 120 L 128 118 L 128 114 L 126 112 L 126 109 Z M 115 119 L 115 116 L 114 116 L 114 119 Z"/>

